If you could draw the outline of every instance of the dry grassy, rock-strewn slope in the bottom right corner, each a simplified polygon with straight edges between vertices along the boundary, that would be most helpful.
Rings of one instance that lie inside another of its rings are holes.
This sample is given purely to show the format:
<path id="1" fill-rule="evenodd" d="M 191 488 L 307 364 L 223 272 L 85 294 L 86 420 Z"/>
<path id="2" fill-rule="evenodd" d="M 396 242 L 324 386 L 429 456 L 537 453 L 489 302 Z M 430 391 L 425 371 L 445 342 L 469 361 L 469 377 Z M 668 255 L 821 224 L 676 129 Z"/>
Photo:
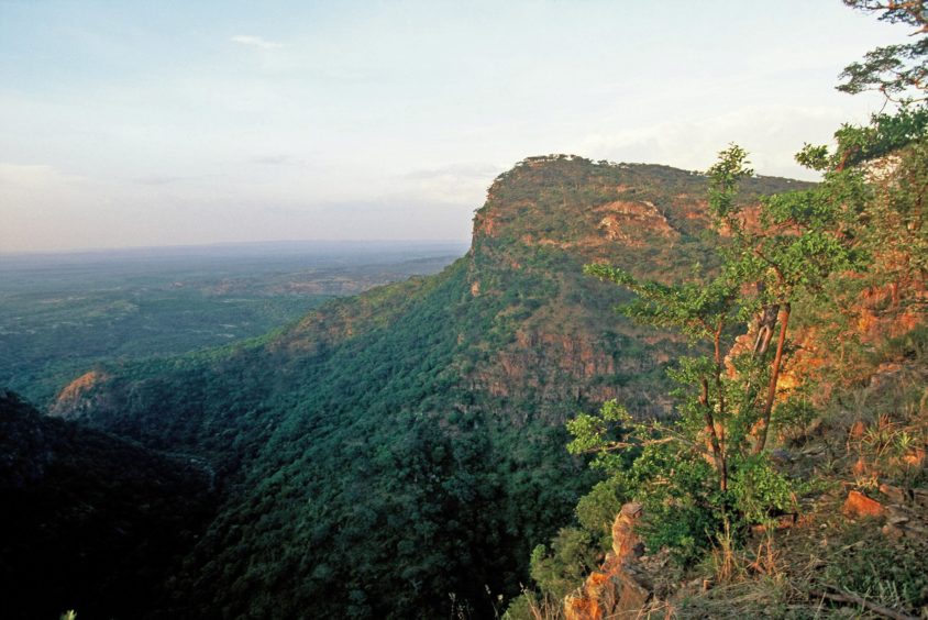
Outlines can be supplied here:
<path id="1" fill-rule="evenodd" d="M 826 414 L 824 431 L 795 451 L 793 473 L 819 489 L 806 498 L 800 522 L 766 529 L 740 547 L 725 531 L 703 566 L 714 587 L 681 589 L 673 616 L 928 618 L 928 536 L 887 536 L 882 521 L 841 513 L 849 488 L 891 502 L 877 492 L 887 481 L 928 487 L 927 464 L 917 457 L 928 445 L 926 385 L 928 368 L 910 364 L 840 395 L 833 401 L 840 410 Z M 908 502 L 899 510 L 928 523 L 925 507 Z"/>

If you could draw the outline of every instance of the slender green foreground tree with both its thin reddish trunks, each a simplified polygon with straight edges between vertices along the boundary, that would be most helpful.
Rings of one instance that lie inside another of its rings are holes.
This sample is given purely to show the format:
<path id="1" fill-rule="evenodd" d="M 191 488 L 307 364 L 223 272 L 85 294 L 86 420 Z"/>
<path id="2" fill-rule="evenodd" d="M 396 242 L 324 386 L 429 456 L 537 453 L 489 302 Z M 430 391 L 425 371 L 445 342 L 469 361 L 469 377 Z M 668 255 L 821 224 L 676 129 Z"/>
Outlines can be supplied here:
<path id="1" fill-rule="evenodd" d="M 674 440 L 701 453 L 712 463 L 721 492 L 729 489 L 732 467 L 766 446 L 795 299 L 819 290 L 832 273 L 853 265 L 859 254 L 843 225 L 860 201 L 859 175 L 847 173 L 840 182 L 776 195 L 752 210 L 737 199 L 739 181 L 752 174 L 739 146 L 723 151 L 709 169 L 709 211 L 722 257 L 714 274 L 666 285 L 639 281 L 607 265 L 586 269 L 638 294 L 638 300 L 623 308 L 632 319 L 675 329 L 694 344 L 710 345 L 709 354 L 682 358 L 673 373 L 683 397 L 676 427 L 639 429 L 637 441 L 644 446 Z M 751 317 L 754 346 L 737 350 L 738 329 Z M 617 411 L 607 407 L 598 417 L 574 421 L 573 450 L 628 447 L 628 442 L 601 441 L 603 427 L 594 429 L 627 421 Z"/>

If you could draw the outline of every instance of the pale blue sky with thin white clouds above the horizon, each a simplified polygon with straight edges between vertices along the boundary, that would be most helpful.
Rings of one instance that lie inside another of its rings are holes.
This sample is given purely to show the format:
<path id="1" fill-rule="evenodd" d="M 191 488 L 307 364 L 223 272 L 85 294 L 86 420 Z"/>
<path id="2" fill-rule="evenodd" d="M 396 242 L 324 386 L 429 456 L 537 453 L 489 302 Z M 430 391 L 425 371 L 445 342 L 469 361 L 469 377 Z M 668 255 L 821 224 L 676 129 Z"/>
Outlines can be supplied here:
<path id="1" fill-rule="evenodd" d="M 763 175 L 882 100 L 839 0 L 0 0 L 0 254 L 466 240 L 532 155 Z"/>

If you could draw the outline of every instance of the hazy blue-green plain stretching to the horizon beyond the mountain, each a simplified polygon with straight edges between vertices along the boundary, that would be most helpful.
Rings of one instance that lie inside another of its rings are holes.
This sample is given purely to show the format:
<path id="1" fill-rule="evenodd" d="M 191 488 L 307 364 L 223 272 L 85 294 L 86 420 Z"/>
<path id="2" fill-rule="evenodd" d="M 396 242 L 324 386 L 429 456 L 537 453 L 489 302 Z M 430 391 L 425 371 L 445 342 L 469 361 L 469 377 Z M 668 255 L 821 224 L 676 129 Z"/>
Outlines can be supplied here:
<path id="1" fill-rule="evenodd" d="M 279 329 L 324 301 L 441 270 L 462 242 L 274 242 L 0 254 L 0 385 L 46 406 L 97 363 Z"/>

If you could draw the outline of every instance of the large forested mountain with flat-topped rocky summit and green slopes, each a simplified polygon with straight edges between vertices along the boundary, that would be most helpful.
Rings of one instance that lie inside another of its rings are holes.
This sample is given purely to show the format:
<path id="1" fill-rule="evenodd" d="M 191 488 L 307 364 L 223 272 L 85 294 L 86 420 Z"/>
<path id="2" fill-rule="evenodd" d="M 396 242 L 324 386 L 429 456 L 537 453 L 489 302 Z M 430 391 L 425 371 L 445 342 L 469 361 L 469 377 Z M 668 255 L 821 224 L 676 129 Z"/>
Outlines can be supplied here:
<path id="1" fill-rule="evenodd" d="M 594 475 L 563 422 L 607 398 L 669 412 L 685 342 L 616 319 L 609 259 L 688 277 L 707 179 L 530 158 L 490 187 L 443 273 L 336 300 L 296 326 L 176 359 L 103 365 L 53 412 L 208 458 L 221 503 L 170 580 L 174 609 L 261 617 L 491 616 Z M 741 200 L 797 187 L 745 182 Z"/>

